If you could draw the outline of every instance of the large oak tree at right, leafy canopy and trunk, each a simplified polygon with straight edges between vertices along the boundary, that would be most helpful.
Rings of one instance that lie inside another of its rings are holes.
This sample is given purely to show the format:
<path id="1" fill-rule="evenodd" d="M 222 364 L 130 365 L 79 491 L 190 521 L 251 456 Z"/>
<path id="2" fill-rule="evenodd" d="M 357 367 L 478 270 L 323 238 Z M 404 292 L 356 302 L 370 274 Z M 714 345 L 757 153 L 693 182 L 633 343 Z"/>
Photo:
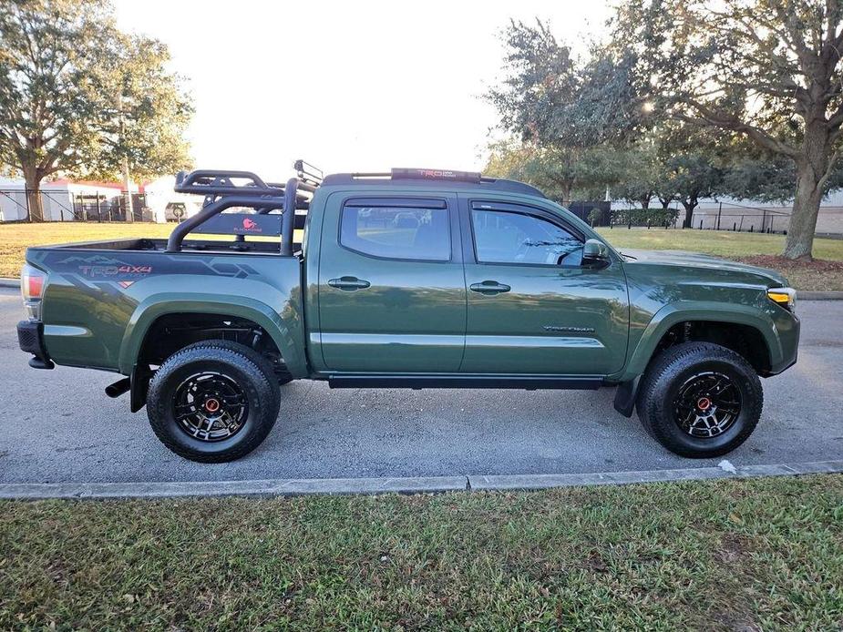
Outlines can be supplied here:
<path id="1" fill-rule="evenodd" d="M 627 0 L 614 18 L 617 55 L 635 58 L 633 91 L 656 111 L 792 161 L 789 259 L 811 257 L 843 148 L 841 19 L 840 0 Z"/>

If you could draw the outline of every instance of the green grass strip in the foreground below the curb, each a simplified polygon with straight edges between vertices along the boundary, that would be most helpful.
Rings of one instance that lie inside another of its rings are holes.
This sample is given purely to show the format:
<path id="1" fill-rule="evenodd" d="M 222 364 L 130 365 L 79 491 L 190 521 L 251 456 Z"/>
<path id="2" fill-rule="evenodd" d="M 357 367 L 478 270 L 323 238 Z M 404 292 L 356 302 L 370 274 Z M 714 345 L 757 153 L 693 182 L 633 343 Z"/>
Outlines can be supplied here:
<path id="1" fill-rule="evenodd" d="M 0 503 L 0 627 L 843 625 L 843 476 Z"/>

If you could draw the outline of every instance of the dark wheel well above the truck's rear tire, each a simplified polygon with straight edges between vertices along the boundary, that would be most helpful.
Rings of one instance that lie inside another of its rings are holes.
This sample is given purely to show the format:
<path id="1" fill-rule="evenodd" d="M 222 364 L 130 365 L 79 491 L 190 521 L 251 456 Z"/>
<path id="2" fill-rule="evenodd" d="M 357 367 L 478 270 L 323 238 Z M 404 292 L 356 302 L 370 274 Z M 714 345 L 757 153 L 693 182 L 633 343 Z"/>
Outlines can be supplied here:
<path id="1" fill-rule="evenodd" d="M 140 345 L 137 366 L 150 374 L 173 353 L 206 340 L 225 340 L 245 345 L 272 362 L 279 382 L 288 382 L 290 372 L 272 336 L 258 323 L 239 316 L 180 312 L 159 316 Z"/>

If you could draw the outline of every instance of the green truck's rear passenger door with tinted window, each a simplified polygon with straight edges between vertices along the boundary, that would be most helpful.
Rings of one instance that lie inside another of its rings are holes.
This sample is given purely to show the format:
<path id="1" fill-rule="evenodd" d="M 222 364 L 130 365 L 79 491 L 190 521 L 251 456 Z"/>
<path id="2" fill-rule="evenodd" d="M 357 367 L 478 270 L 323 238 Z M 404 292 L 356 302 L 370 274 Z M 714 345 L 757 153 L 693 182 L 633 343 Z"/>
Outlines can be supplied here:
<path id="1" fill-rule="evenodd" d="M 320 252 L 328 370 L 457 372 L 466 286 L 456 196 L 336 193 Z"/>

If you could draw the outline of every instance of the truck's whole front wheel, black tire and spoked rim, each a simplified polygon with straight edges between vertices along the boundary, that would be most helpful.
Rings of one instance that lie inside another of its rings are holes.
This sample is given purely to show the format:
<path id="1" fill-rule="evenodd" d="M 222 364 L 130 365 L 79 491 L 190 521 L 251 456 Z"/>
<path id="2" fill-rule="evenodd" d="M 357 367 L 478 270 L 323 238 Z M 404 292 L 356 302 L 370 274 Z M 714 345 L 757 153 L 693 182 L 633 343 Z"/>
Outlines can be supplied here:
<path id="1" fill-rule="evenodd" d="M 636 409 L 647 432 L 673 454 L 712 458 L 746 441 L 763 405 L 761 381 L 741 355 L 685 342 L 647 368 Z"/>

